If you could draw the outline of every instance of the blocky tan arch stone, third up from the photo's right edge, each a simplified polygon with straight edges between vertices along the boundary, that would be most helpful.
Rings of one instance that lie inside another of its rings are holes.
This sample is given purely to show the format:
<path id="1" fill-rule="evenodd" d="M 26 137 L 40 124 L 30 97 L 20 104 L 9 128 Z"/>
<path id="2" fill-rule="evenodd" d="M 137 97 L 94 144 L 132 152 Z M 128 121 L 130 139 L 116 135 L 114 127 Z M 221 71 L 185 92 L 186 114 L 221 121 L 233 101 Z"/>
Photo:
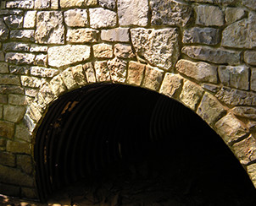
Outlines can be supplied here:
<path id="1" fill-rule="evenodd" d="M 248 128 L 246 128 L 242 122 L 231 114 L 227 114 L 215 123 L 217 133 L 223 138 L 225 144 L 232 144 L 239 138 L 248 134 Z"/>

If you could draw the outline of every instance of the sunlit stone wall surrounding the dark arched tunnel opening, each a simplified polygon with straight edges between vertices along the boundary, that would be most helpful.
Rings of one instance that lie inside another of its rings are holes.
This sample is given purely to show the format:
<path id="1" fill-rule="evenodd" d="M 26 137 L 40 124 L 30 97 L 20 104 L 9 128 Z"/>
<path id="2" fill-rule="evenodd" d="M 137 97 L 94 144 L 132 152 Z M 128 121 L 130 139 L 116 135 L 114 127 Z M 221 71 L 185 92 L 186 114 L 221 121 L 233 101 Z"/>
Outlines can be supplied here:
<path id="1" fill-rule="evenodd" d="M 181 101 L 256 187 L 254 0 L 2 0 L 0 41 L 0 192 L 36 198 L 36 128 L 59 95 L 98 82 Z"/>

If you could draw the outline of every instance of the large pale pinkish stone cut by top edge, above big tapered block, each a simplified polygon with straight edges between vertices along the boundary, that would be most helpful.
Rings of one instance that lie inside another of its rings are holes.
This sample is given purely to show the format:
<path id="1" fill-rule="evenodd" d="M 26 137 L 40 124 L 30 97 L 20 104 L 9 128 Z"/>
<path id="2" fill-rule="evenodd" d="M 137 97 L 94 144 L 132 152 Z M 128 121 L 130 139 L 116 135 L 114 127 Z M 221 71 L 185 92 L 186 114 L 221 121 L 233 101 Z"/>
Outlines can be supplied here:
<path id="1" fill-rule="evenodd" d="M 121 26 L 147 25 L 148 2 L 147 0 L 118 0 L 117 10 Z"/>

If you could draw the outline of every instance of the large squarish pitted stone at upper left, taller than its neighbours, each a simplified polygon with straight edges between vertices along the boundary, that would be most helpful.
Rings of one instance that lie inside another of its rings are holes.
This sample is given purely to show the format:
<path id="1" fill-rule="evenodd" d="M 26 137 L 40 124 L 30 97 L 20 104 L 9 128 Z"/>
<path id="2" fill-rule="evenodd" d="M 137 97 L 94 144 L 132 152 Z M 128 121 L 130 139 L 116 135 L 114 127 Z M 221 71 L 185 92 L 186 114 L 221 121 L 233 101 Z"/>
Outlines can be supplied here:
<path id="1" fill-rule="evenodd" d="M 36 42 L 40 44 L 64 44 L 62 12 L 44 11 L 36 14 Z"/>

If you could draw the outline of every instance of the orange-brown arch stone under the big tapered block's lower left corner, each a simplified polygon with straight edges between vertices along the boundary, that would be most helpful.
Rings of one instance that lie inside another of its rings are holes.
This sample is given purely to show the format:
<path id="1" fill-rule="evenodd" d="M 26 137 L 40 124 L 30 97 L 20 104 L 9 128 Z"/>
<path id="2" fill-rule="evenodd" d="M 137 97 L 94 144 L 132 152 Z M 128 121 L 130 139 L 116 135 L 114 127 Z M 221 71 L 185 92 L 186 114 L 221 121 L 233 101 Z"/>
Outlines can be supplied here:
<path id="1" fill-rule="evenodd" d="M 143 73 L 146 69 L 146 64 L 139 62 L 129 62 L 127 83 L 140 86 L 142 84 Z"/>

